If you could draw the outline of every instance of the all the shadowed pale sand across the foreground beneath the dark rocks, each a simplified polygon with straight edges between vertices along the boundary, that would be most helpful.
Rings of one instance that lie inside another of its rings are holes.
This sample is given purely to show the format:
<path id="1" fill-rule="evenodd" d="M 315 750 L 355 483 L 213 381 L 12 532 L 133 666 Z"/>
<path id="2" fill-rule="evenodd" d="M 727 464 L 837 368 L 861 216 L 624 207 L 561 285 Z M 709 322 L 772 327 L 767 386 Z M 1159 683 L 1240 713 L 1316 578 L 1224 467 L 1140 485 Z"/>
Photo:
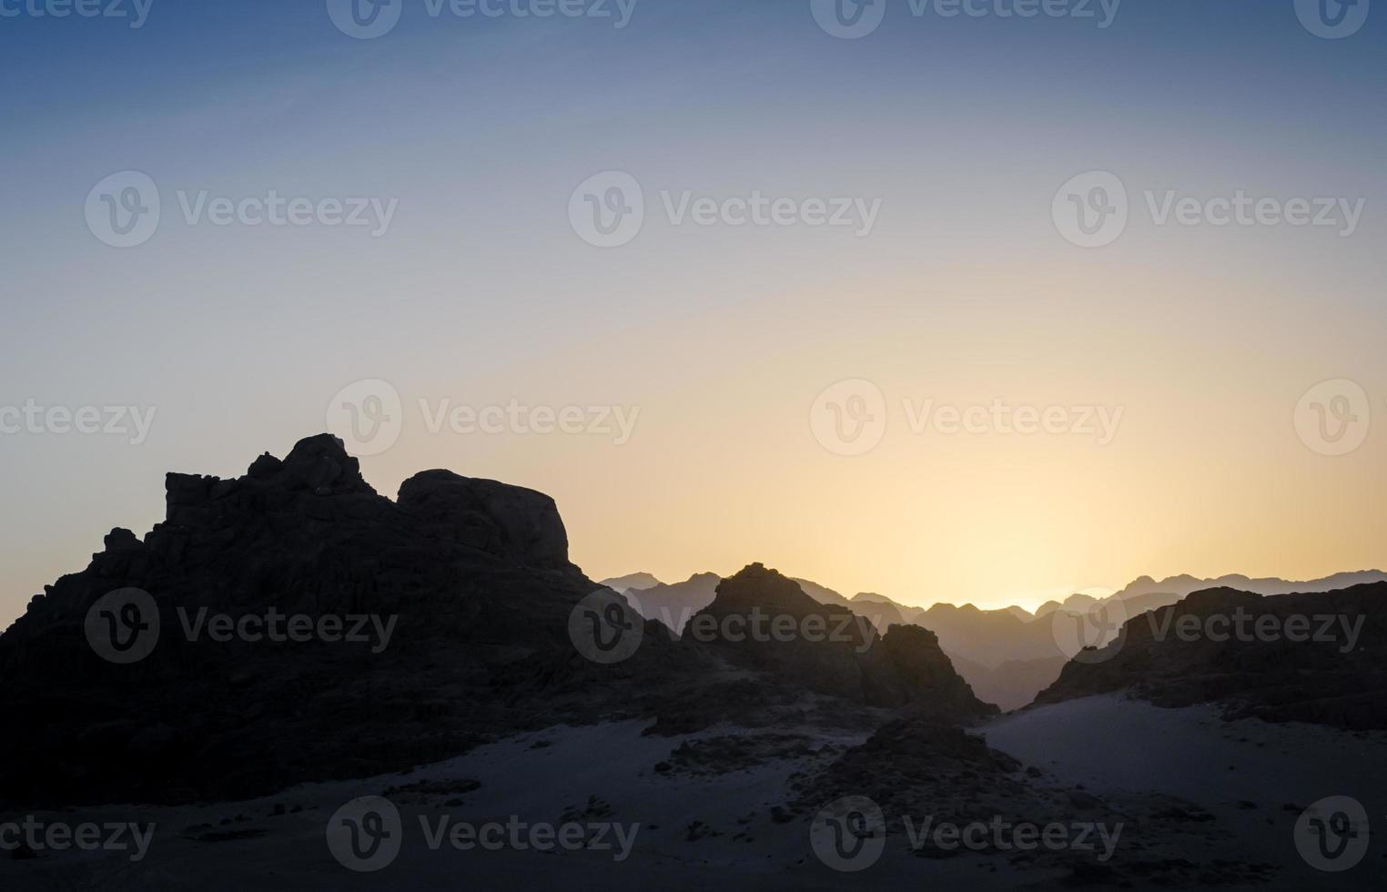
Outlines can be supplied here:
<path id="1" fill-rule="evenodd" d="M 641 730 L 641 723 L 549 728 L 409 774 L 302 785 L 239 803 L 37 813 L 35 817 L 46 823 L 154 821 L 157 830 L 139 863 L 115 852 L 0 857 L 0 889 L 512 891 L 559 884 L 608 892 L 1015 889 L 1057 888 L 1062 880 L 1057 871 L 1017 874 L 1001 856 L 915 857 L 903 835 L 893 835 L 868 870 L 836 873 L 813 855 L 811 816 L 781 823 L 771 814 L 774 806 L 793 798 L 785 788 L 791 774 L 822 756 L 781 759 L 721 775 L 660 773 L 655 766 L 670 759 L 681 742 L 730 730 L 685 738 L 642 737 Z M 1212 710 L 1160 710 L 1121 698 L 1006 716 L 983 731 L 993 746 L 1043 769 L 1047 782 L 1083 784 L 1099 796 L 1160 789 L 1204 805 L 1221 824 L 1265 853 L 1265 860 L 1286 867 L 1284 882 L 1255 888 L 1380 888 L 1384 861 L 1379 853 L 1387 841 L 1387 821 L 1368 861 L 1352 874 L 1329 877 L 1300 863 L 1290 839 L 1295 814 L 1282 807 L 1350 794 L 1370 806 L 1375 818 L 1381 816 L 1387 805 L 1381 737 L 1304 726 L 1226 724 Z M 813 746 L 852 746 L 863 737 L 818 731 Z M 463 781 L 480 787 L 469 789 Z M 406 788 L 422 782 L 434 787 Z M 355 873 L 340 864 L 326 838 L 337 809 L 366 795 L 387 795 L 402 818 L 402 848 L 377 873 Z M 1241 800 L 1257 807 L 1241 807 Z M 483 824 L 505 823 L 510 816 L 552 824 L 616 821 L 634 832 L 634 842 L 620 861 L 616 852 L 463 852 L 447 842 L 430 849 L 420 827 L 420 817 Z M 22 816 L 4 814 L 0 821 L 17 817 Z M 1326 885 L 1330 878 L 1333 884 Z"/>

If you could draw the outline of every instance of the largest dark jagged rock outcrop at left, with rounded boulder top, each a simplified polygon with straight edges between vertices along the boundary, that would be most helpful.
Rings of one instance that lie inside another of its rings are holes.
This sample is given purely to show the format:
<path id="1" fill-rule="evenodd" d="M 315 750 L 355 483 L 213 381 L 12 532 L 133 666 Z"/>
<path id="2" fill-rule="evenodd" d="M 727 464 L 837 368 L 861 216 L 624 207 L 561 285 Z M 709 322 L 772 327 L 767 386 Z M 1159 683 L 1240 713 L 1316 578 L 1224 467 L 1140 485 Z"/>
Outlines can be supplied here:
<path id="1" fill-rule="evenodd" d="M 393 502 L 330 436 L 262 455 L 237 480 L 168 474 L 166 491 L 165 522 L 143 541 L 114 530 L 0 637 L 0 709 L 15 731 L 0 739 L 0 800 L 171 802 L 399 770 L 627 707 L 623 680 L 677 671 L 655 624 L 619 666 L 574 651 L 569 613 L 596 585 L 569 563 L 540 492 L 426 472 Z M 161 628 L 122 666 L 97 656 L 83 624 L 125 587 L 154 598 Z M 201 609 L 269 608 L 394 617 L 393 637 L 377 652 L 372 626 L 362 642 L 184 630 Z"/>

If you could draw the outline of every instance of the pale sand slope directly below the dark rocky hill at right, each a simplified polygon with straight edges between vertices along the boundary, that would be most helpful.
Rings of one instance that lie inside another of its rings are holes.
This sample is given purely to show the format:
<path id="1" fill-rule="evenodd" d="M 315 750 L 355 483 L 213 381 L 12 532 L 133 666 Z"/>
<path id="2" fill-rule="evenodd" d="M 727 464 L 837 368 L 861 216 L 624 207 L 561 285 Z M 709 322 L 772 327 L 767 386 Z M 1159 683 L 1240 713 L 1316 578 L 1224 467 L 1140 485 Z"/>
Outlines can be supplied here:
<path id="1" fill-rule="evenodd" d="M 1155 789 L 1204 806 L 1259 860 L 1283 868 L 1259 888 L 1387 888 L 1387 734 L 1223 721 L 1212 706 L 1160 709 L 1123 695 L 1013 713 L 983 734 L 1100 798 Z M 1376 838 L 1355 868 L 1326 874 L 1301 859 L 1293 828 L 1305 806 L 1336 795 L 1363 805 Z"/>

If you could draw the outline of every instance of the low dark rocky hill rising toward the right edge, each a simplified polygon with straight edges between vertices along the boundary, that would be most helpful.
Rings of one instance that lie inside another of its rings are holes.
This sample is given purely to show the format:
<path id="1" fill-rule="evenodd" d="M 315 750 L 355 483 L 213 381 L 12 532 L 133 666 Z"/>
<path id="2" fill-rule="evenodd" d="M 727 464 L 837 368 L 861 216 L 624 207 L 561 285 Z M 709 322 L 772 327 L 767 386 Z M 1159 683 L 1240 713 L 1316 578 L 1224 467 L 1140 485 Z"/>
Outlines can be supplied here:
<path id="1" fill-rule="evenodd" d="M 1162 706 L 1387 728 L 1387 583 L 1262 597 L 1198 591 L 1128 620 L 1064 667 L 1037 703 L 1130 689 Z"/>

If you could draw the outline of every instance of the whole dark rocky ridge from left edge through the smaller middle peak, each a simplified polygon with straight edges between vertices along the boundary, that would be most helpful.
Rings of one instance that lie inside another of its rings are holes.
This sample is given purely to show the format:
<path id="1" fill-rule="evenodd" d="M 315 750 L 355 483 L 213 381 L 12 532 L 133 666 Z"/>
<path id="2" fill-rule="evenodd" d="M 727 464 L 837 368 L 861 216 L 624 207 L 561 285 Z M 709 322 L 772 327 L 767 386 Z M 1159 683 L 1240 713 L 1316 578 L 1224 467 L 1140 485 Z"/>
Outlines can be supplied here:
<path id="1" fill-rule="evenodd" d="M 712 616 L 822 613 L 849 638 L 675 640 L 569 560 L 549 497 L 429 470 L 390 499 L 326 434 L 165 492 L 164 522 L 112 530 L 0 635 L 0 806 L 230 800 L 609 719 L 660 735 L 993 712 L 931 633 L 882 638 L 759 566 Z M 603 662 L 602 630 L 638 646 Z"/>

